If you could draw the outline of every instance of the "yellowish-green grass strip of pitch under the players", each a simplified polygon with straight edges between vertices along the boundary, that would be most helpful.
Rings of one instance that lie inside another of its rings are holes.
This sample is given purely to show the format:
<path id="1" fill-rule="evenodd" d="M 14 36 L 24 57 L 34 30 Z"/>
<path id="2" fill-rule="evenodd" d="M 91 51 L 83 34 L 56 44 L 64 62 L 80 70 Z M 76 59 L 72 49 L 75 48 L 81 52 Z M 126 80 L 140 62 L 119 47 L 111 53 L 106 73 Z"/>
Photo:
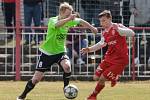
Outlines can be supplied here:
<path id="1" fill-rule="evenodd" d="M 85 100 L 85 97 L 93 90 L 96 82 L 72 81 L 79 88 L 79 95 L 75 100 Z M 16 100 L 23 91 L 26 82 L 0 81 L 0 100 Z M 40 82 L 32 90 L 26 100 L 67 100 L 62 91 L 63 83 Z M 106 87 L 97 100 L 150 100 L 150 81 L 118 83 L 115 87 Z"/>

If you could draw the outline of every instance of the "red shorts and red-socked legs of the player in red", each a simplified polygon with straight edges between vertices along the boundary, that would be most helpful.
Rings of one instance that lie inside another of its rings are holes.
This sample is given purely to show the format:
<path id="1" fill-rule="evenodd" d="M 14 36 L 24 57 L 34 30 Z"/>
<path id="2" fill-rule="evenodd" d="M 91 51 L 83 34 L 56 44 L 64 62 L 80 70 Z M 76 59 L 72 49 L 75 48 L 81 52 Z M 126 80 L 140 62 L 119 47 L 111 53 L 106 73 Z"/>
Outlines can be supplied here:
<path id="1" fill-rule="evenodd" d="M 105 65 L 104 65 L 105 64 Z M 120 75 L 125 65 L 111 64 L 108 62 L 104 62 L 101 64 L 101 70 L 96 71 L 96 76 L 101 75 L 99 81 L 93 91 L 93 93 L 88 97 L 88 100 L 96 100 L 96 96 L 102 91 L 105 87 L 105 81 L 111 81 L 111 86 L 115 86 L 117 83 L 118 75 Z M 103 70 L 104 69 L 104 70 Z M 102 71 L 103 70 L 103 71 Z M 99 72 L 102 72 L 101 74 Z M 95 77 L 97 78 L 97 77 Z"/>

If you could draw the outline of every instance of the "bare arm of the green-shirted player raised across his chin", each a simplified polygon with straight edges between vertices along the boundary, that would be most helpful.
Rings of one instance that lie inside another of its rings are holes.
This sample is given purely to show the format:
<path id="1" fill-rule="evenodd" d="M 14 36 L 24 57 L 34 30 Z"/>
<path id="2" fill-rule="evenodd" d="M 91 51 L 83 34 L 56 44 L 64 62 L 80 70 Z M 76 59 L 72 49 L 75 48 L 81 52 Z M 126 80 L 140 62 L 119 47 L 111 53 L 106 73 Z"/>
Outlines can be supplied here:
<path id="1" fill-rule="evenodd" d="M 71 14 L 69 17 L 64 18 L 64 19 L 60 19 L 56 24 L 55 27 L 61 27 L 63 26 L 65 23 L 74 20 L 76 17 L 76 14 Z"/>

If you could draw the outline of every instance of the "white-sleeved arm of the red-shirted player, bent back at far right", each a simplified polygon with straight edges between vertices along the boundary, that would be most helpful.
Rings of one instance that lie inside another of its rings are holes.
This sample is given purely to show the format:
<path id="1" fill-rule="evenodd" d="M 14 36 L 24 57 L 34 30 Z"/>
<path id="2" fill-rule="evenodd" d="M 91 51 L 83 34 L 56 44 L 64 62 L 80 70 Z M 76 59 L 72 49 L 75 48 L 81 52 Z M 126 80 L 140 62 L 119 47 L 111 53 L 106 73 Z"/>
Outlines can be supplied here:
<path id="1" fill-rule="evenodd" d="M 135 33 L 132 29 L 127 28 L 123 25 L 113 24 L 114 28 L 119 32 L 121 36 L 134 36 Z"/>

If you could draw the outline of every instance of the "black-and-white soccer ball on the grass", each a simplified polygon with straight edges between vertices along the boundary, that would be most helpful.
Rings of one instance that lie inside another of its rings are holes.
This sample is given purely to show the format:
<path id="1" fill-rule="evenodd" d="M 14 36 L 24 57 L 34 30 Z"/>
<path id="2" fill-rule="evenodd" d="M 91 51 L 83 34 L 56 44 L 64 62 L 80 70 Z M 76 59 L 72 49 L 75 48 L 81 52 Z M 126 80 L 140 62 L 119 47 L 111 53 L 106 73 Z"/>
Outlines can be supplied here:
<path id="1" fill-rule="evenodd" d="M 66 98 L 74 99 L 78 95 L 78 88 L 73 84 L 69 84 L 64 88 L 64 94 Z"/>

